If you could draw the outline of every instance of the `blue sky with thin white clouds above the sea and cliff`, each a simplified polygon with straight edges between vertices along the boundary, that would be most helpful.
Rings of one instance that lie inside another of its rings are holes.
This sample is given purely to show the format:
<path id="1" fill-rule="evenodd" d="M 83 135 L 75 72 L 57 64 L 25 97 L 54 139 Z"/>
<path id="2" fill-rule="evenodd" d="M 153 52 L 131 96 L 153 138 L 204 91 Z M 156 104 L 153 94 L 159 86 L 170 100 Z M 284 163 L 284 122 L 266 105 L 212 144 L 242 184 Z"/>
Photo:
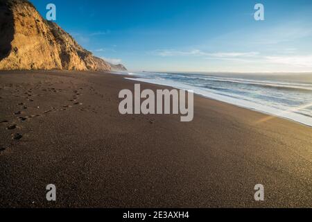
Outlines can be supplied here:
<path id="1" fill-rule="evenodd" d="M 131 71 L 312 71 L 311 0 L 31 0 Z M 265 20 L 254 20 L 262 3 Z"/>

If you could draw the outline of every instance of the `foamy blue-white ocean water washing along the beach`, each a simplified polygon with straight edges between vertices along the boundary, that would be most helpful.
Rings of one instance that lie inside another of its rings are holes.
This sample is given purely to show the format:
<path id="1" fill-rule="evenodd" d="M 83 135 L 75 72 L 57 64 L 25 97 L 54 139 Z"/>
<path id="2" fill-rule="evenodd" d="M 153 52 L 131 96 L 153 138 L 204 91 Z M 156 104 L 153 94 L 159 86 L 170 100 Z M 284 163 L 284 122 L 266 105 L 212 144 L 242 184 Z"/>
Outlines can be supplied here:
<path id="1" fill-rule="evenodd" d="M 132 72 L 131 80 L 179 89 L 312 126 L 312 74 Z"/>

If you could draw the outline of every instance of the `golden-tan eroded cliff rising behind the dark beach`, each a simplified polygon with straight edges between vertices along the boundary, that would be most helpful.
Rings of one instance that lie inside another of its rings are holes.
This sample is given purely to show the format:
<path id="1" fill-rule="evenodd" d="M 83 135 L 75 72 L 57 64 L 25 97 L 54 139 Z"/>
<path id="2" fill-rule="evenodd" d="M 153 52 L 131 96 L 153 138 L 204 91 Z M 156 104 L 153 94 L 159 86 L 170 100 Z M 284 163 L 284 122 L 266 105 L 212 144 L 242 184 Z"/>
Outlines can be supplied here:
<path id="1" fill-rule="evenodd" d="M 126 70 L 83 49 L 27 0 L 0 0 L 0 33 L 0 69 Z"/>

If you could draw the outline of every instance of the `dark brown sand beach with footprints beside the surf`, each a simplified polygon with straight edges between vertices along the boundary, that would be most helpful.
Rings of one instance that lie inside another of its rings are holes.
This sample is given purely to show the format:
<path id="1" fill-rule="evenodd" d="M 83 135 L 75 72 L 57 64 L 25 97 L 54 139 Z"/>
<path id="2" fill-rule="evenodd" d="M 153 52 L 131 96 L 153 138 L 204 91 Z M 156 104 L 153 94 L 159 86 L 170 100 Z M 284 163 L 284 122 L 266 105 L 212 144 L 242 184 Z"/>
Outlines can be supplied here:
<path id="1" fill-rule="evenodd" d="M 312 207 L 312 128 L 200 96 L 191 122 L 121 115 L 134 83 L 1 71 L 0 207 Z"/>

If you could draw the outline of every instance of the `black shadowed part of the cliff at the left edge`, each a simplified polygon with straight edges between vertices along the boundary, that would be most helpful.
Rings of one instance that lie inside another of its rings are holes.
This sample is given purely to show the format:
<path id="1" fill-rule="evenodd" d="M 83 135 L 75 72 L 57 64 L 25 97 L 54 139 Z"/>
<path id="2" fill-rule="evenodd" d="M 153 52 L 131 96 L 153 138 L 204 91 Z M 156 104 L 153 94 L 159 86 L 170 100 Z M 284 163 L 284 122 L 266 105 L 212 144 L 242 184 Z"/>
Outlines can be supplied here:
<path id="1" fill-rule="evenodd" d="M 0 0 L 0 61 L 10 54 L 14 34 L 12 5 L 8 0 Z"/>

